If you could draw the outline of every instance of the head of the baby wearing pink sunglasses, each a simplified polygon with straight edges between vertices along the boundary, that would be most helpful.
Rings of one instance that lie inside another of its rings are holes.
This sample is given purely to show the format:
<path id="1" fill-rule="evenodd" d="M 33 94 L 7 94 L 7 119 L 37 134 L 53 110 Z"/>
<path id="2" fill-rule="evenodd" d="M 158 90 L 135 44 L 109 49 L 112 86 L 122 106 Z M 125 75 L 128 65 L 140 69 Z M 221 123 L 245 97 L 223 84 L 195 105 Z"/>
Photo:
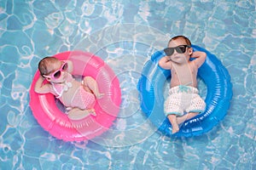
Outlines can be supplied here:
<path id="1" fill-rule="evenodd" d="M 63 65 L 63 61 L 56 59 L 55 57 L 45 57 L 38 63 L 38 70 L 40 71 L 41 76 L 46 78 L 49 82 L 62 81 L 60 69 L 62 71 L 67 70 L 67 63 L 66 65 Z"/>

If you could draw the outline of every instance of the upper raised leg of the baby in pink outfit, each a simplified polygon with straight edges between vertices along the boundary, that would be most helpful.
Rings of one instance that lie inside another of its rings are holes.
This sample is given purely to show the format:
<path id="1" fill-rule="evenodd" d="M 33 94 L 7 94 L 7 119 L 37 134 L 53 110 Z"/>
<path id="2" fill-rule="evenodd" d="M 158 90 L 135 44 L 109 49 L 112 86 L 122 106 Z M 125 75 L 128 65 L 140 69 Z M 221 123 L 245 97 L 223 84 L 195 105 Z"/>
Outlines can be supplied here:
<path id="1" fill-rule="evenodd" d="M 84 89 L 96 95 L 96 98 L 101 98 L 97 82 L 92 77 L 84 77 Z"/>

